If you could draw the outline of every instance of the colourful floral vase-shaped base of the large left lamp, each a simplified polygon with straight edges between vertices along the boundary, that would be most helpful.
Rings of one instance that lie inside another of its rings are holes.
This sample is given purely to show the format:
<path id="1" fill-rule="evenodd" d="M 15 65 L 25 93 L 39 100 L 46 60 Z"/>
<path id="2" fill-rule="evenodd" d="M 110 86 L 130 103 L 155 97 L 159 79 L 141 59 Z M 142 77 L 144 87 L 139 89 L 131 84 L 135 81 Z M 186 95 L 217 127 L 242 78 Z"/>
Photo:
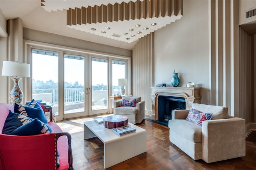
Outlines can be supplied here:
<path id="1" fill-rule="evenodd" d="M 20 89 L 19 81 L 22 79 L 22 77 L 11 77 L 14 81 L 14 86 L 12 91 L 9 94 L 9 99 L 11 104 L 18 103 L 20 104 L 23 99 L 23 92 Z"/>

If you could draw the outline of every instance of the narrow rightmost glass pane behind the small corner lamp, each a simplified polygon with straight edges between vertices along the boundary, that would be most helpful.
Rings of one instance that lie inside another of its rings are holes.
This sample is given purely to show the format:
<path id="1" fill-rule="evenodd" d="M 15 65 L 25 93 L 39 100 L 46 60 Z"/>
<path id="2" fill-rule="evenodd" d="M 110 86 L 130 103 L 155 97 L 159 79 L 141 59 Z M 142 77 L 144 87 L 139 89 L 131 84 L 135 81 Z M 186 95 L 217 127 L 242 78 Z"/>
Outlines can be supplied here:
<path id="1" fill-rule="evenodd" d="M 118 86 L 118 79 L 125 78 L 126 62 L 112 61 L 112 96 L 121 94 L 121 86 Z M 125 88 L 125 86 L 124 86 Z"/>

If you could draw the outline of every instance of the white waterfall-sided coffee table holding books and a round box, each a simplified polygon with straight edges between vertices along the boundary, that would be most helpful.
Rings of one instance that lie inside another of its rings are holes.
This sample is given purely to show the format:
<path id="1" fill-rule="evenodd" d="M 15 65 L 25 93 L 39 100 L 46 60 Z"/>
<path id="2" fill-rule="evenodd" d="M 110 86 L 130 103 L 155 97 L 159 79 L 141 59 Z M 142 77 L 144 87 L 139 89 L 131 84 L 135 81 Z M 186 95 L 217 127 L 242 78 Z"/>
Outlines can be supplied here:
<path id="1" fill-rule="evenodd" d="M 123 162 L 147 151 L 146 130 L 129 123 L 136 132 L 118 136 L 112 129 L 95 121 L 84 122 L 84 139 L 98 137 L 104 143 L 104 168 Z"/>

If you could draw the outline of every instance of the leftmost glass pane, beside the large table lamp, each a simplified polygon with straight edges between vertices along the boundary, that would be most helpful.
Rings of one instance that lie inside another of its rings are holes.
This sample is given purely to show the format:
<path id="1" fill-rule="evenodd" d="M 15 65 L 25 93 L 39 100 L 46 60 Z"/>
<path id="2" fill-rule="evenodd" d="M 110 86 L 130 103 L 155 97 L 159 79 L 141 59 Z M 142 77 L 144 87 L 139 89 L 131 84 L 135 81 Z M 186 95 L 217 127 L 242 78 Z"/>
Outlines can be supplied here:
<path id="1" fill-rule="evenodd" d="M 57 52 L 32 49 L 32 98 L 52 106 L 58 115 L 58 57 Z"/>

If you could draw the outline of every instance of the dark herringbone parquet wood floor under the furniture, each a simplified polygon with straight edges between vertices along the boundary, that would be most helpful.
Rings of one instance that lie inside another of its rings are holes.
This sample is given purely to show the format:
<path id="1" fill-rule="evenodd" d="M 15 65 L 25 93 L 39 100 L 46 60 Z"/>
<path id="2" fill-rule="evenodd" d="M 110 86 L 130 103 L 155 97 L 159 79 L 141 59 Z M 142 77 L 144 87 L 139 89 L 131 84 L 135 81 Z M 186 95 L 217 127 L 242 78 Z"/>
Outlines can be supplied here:
<path id="1" fill-rule="evenodd" d="M 74 170 L 104 170 L 104 144 L 97 137 L 84 140 L 83 123 L 90 120 L 93 119 L 82 118 L 58 123 L 63 131 L 72 135 Z M 147 152 L 108 170 L 256 170 L 256 132 L 246 138 L 246 156 L 207 164 L 203 160 L 193 160 L 172 145 L 168 127 L 146 120 L 138 126 L 147 131 Z M 120 150 L 120 154 L 125 153 Z"/>

